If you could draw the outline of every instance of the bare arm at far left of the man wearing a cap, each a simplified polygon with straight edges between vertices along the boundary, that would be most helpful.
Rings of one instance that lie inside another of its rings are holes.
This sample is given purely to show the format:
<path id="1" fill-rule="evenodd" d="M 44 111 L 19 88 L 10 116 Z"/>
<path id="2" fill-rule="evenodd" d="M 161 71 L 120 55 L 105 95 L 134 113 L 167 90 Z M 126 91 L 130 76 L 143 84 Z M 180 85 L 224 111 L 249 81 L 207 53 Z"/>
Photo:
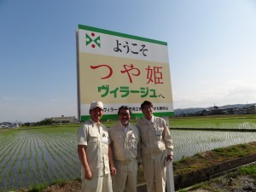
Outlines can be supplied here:
<path id="1" fill-rule="evenodd" d="M 86 145 L 78 145 L 78 154 L 79 154 L 79 160 L 84 168 L 84 178 L 85 179 L 91 179 L 92 178 L 92 172 L 90 172 L 90 166 L 87 161 L 86 156 Z"/>

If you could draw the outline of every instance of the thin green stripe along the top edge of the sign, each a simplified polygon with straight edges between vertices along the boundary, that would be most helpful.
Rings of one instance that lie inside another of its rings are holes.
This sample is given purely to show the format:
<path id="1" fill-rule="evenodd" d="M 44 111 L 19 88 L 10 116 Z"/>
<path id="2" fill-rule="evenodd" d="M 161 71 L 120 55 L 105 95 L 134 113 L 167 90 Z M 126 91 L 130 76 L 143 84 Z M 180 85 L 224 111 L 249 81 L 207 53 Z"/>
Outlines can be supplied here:
<path id="1" fill-rule="evenodd" d="M 101 33 L 104 33 L 104 34 L 118 36 L 118 37 L 121 37 L 121 38 L 132 38 L 132 39 L 139 40 L 139 41 L 145 41 L 145 42 L 153 43 L 153 44 L 162 44 L 162 45 L 167 46 L 167 43 L 164 42 L 164 41 L 158 41 L 158 40 L 154 40 L 154 39 L 151 39 L 151 38 L 142 38 L 142 37 L 128 35 L 128 34 L 121 33 L 121 32 L 112 32 L 112 31 L 108 31 L 108 30 L 105 30 L 105 29 L 100 29 L 100 28 L 96 28 L 96 27 L 92 27 L 92 26 L 83 26 L 83 25 L 79 24 L 79 29 L 84 29 L 84 30 L 87 30 L 87 31 L 90 31 L 90 32 L 101 32 Z"/>

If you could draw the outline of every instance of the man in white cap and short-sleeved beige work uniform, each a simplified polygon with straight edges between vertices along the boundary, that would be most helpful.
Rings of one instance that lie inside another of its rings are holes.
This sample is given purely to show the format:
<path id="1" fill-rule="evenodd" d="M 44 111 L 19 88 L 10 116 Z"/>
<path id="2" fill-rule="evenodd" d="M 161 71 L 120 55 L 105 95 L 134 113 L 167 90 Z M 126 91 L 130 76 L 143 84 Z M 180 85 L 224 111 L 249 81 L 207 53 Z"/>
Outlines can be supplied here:
<path id="1" fill-rule="evenodd" d="M 107 128 L 100 123 L 102 102 L 90 103 L 90 119 L 79 128 L 78 153 L 83 192 L 112 192 L 112 149 Z"/>

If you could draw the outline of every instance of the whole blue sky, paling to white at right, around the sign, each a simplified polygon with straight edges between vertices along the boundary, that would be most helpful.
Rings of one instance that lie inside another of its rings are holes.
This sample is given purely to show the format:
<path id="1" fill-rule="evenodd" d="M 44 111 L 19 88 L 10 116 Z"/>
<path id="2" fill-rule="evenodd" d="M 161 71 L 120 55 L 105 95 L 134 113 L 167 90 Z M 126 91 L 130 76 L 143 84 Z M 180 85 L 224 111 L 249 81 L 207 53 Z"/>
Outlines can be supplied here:
<path id="1" fill-rule="evenodd" d="M 79 24 L 166 41 L 174 108 L 256 102 L 254 0 L 0 0 L 0 122 L 77 116 Z"/>

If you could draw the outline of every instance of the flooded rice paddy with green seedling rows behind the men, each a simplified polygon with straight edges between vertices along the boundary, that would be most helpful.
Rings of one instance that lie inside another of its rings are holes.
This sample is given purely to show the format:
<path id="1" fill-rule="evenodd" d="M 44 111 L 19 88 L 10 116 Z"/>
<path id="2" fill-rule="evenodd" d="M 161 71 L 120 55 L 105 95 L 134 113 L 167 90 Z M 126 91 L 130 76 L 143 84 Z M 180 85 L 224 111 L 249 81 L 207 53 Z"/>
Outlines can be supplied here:
<path id="1" fill-rule="evenodd" d="M 113 123 L 106 122 L 105 125 L 109 127 Z M 253 142 L 256 139 L 256 131 L 253 131 L 256 130 L 254 116 L 171 119 L 170 125 L 175 160 L 213 148 Z M 28 189 L 37 184 L 80 177 L 77 154 L 79 126 L 59 125 L 0 130 L 0 191 Z M 212 128 L 219 131 L 211 131 Z M 229 131 L 235 128 L 242 131 Z"/>

